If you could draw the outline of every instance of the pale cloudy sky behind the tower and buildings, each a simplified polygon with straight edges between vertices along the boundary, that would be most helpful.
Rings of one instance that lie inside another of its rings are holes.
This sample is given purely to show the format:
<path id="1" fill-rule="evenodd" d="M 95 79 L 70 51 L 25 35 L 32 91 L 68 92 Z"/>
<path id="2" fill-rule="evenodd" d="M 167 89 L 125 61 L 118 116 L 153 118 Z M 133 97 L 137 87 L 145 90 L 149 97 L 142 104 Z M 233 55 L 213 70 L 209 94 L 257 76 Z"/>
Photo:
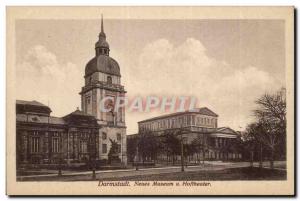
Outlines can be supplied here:
<path id="1" fill-rule="evenodd" d="M 193 96 L 219 115 L 219 126 L 243 130 L 254 101 L 285 86 L 282 20 L 104 19 L 104 31 L 129 98 Z M 58 117 L 80 107 L 99 32 L 100 19 L 18 20 L 17 99 L 40 101 Z M 161 114 L 127 111 L 127 134 Z"/>

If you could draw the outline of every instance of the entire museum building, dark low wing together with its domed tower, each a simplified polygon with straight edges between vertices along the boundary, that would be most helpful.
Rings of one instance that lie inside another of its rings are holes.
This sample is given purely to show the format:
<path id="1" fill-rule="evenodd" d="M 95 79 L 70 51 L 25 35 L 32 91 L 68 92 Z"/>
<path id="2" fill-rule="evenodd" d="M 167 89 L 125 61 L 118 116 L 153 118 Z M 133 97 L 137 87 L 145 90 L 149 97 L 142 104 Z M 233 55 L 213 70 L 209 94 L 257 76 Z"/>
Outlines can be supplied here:
<path id="1" fill-rule="evenodd" d="M 80 91 L 81 109 L 64 117 L 38 101 L 16 101 L 17 166 L 32 164 L 88 163 L 109 160 L 114 143 L 115 161 L 127 164 L 125 108 L 114 111 L 116 97 L 124 96 L 120 67 L 109 56 L 109 44 L 101 32 L 95 56 L 86 64 L 85 85 Z M 101 112 L 100 101 L 111 97 L 111 111 Z M 116 160 L 117 159 L 117 160 Z"/>

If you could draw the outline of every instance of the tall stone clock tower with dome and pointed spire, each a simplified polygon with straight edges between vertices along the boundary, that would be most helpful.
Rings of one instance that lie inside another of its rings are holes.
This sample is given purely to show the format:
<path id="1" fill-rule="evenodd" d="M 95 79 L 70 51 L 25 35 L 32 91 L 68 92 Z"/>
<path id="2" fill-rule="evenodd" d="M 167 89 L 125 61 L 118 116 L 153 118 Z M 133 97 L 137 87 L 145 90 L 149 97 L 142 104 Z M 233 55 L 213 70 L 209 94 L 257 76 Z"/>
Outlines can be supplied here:
<path id="1" fill-rule="evenodd" d="M 117 97 L 125 96 L 126 91 L 121 85 L 119 64 L 109 56 L 109 50 L 101 17 L 101 32 L 95 44 L 95 57 L 85 67 L 85 86 L 80 92 L 81 107 L 84 113 L 95 116 L 101 125 L 99 130 L 100 160 L 108 159 L 111 139 L 118 144 L 119 159 L 126 164 L 125 108 L 119 108 L 118 111 L 114 109 Z M 110 110 L 103 111 L 102 105 Z"/>

